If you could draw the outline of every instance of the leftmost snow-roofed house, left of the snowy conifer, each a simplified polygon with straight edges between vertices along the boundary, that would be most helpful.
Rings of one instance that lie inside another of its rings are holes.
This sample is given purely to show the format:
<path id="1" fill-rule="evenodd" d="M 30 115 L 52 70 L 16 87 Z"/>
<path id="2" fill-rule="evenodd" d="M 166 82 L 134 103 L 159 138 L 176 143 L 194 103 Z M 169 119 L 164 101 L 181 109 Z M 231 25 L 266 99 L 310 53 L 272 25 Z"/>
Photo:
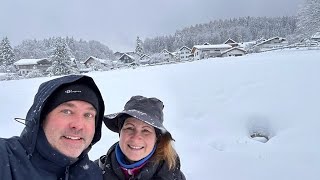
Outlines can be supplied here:
<path id="1" fill-rule="evenodd" d="M 13 65 L 19 70 L 19 75 L 27 75 L 34 69 L 38 69 L 45 73 L 45 71 L 52 65 L 47 58 L 42 59 L 20 59 Z"/>

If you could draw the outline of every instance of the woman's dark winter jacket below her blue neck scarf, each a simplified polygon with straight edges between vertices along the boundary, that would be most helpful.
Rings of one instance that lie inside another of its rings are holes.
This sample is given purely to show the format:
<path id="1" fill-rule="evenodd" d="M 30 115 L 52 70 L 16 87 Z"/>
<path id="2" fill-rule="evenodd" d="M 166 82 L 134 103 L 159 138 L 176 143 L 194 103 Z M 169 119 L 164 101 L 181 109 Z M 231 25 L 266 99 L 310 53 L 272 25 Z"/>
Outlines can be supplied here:
<path id="1" fill-rule="evenodd" d="M 117 144 L 117 143 L 116 143 Z M 116 159 L 115 147 L 111 146 L 108 153 L 101 156 L 95 162 L 99 164 L 103 171 L 104 180 L 124 180 L 125 176 Z M 177 166 L 173 170 L 169 170 L 164 161 L 155 165 L 152 162 L 147 162 L 136 177 L 131 177 L 133 180 L 185 180 L 184 174 L 180 171 L 180 161 L 178 158 Z"/>

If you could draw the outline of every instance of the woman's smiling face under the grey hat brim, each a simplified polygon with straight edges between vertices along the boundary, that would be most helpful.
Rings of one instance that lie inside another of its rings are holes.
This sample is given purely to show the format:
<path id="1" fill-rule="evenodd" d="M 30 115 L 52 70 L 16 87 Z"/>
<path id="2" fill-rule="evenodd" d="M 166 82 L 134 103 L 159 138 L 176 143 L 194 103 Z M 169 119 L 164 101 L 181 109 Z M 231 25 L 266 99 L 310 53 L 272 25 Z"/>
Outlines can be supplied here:
<path id="1" fill-rule="evenodd" d="M 153 126 L 136 118 L 125 120 L 120 131 L 119 145 L 130 161 L 139 161 L 149 155 L 156 143 Z"/>

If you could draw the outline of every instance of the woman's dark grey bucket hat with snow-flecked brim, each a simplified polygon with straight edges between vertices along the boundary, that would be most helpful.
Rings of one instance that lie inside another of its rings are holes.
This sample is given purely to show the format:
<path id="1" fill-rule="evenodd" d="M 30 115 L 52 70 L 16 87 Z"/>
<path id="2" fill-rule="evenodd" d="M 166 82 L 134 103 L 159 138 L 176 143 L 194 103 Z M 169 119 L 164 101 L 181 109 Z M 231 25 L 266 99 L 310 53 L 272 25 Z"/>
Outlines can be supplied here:
<path id="1" fill-rule="evenodd" d="M 170 132 L 163 126 L 163 102 L 157 98 L 146 98 L 144 96 L 132 96 L 125 104 L 124 110 L 119 113 L 104 116 L 104 124 L 113 132 L 119 133 L 123 117 L 127 115 L 137 118 L 161 131 L 161 134 Z"/>

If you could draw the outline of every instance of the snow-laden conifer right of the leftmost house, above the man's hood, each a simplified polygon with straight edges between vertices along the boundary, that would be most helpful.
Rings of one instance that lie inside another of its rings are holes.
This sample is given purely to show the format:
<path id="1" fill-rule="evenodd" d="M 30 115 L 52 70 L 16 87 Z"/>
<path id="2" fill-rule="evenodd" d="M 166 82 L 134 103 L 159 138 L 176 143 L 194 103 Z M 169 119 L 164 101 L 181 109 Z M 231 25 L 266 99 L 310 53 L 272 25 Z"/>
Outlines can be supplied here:
<path id="1" fill-rule="evenodd" d="M 47 69 L 50 76 L 59 76 L 78 73 L 75 63 L 71 60 L 68 47 L 63 39 L 56 42 L 55 50 L 51 57 L 52 66 Z"/>

